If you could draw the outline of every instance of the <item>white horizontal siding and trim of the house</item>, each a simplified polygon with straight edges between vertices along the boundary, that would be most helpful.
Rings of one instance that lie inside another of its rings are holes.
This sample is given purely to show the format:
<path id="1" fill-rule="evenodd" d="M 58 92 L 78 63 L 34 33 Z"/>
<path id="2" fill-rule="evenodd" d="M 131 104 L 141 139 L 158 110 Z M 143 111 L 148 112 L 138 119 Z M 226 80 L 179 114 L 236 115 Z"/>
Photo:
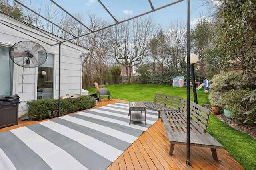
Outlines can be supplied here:
<path id="1" fill-rule="evenodd" d="M 53 84 L 53 97 L 58 98 L 58 74 L 59 74 L 59 45 L 50 46 L 49 44 L 58 43 L 53 38 L 63 41 L 63 39 L 56 37 L 50 33 L 43 34 L 39 29 L 31 28 L 28 25 L 10 18 L 5 14 L 0 13 L 0 45 L 11 47 L 19 41 L 34 41 L 39 43 L 46 49 L 47 53 L 54 54 L 54 84 Z M 23 33 L 16 31 L 6 25 L 10 25 Z M 31 35 L 32 37 L 25 35 Z M 49 35 L 49 36 L 47 36 Z M 38 41 L 33 38 L 36 37 L 46 43 Z M 61 44 L 61 91 L 60 95 L 66 94 L 81 94 L 82 88 L 82 62 L 81 53 L 88 53 L 88 49 L 75 45 L 74 43 L 65 42 Z M 23 70 L 24 69 L 24 70 Z M 27 113 L 28 108 L 25 104 L 26 101 L 36 100 L 37 97 L 37 70 L 38 68 L 23 68 L 14 64 L 13 75 L 13 95 L 18 94 L 22 104 L 19 105 L 19 117 Z M 23 82 L 22 82 L 23 80 Z M 2 80 L 0 80 L 2 81 Z M 23 86 L 23 88 L 22 88 Z M 28 117 L 22 117 L 26 119 Z"/>

